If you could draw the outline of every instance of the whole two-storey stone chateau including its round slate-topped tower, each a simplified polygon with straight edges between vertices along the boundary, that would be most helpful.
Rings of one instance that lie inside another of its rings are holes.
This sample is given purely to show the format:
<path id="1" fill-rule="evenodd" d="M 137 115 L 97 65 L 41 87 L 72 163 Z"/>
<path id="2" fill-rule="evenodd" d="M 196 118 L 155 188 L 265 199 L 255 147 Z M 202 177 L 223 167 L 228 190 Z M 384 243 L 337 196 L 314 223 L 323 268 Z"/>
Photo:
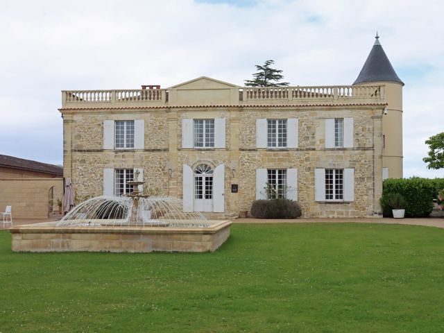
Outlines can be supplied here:
<path id="1" fill-rule="evenodd" d="M 237 216 L 270 184 L 302 216 L 381 216 L 402 177 L 402 86 L 378 37 L 353 85 L 239 87 L 205 76 L 167 89 L 62 92 L 64 176 L 76 198 L 145 194 Z"/>

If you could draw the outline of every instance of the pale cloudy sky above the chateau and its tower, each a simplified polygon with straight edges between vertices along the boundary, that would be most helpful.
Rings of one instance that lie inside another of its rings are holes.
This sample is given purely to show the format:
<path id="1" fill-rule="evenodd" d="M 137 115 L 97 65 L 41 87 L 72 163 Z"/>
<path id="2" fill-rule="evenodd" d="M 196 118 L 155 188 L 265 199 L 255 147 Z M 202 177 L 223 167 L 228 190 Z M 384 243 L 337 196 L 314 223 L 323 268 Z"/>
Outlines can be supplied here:
<path id="1" fill-rule="evenodd" d="M 62 164 L 62 89 L 198 76 L 243 85 L 275 60 L 291 85 L 352 84 L 375 32 L 404 81 L 404 176 L 444 131 L 442 1 L 0 0 L 0 153 Z"/>

